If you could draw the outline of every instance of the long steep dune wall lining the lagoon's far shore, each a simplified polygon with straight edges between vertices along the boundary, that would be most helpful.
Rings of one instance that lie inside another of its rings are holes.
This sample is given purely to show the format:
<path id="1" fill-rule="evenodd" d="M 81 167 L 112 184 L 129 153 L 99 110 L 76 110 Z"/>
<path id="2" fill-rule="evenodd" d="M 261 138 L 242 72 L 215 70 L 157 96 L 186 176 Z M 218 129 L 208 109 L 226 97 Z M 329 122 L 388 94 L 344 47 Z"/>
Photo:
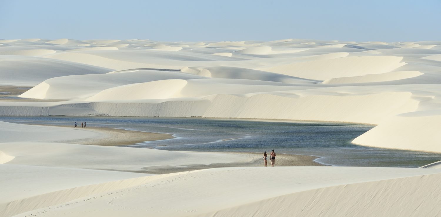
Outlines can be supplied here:
<path id="1" fill-rule="evenodd" d="M 179 81 L 172 80 L 171 82 Z M 190 80 L 191 81 L 191 80 Z M 161 84 L 168 81 L 161 81 L 156 88 L 161 90 Z M 188 81 L 182 81 L 188 82 Z M 243 82 L 243 81 L 242 81 Z M 148 84 L 148 83 L 147 83 Z M 247 93 L 247 85 L 211 85 L 209 82 L 202 82 L 202 87 L 209 87 L 207 93 L 222 91 L 223 94 L 214 94 L 205 97 L 186 97 L 171 99 L 139 99 L 146 93 L 154 96 L 165 96 L 155 94 L 150 90 L 142 90 L 146 84 L 135 84 L 127 87 L 111 88 L 97 94 L 109 97 L 110 99 L 121 99 L 124 94 L 112 92 L 120 90 L 122 93 L 130 93 L 138 90 L 138 94 L 126 97 L 124 100 L 103 101 L 103 102 L 0 102 L 3 106 L 2 115 L 86 115 L 101 114 L 112 116 L 153 116 L 153 117 L 209 117 L 209 118 L 269 118 L 269 119 L 297 119 L 297 120 L 322 120 L 322 121 L 346 121 L 378 124 L 391 115 L 415 111 L 419 106 L 419 100 L 413 99 L 410 92 L 376 91 L 359 92 L 357 88 L 311 88 L 311 87 L 284 87 L 272 86 L 273 90 L 285 89 L 279 92 L 262 93 L 263 88 L 258 85 L 251 86 L 258 88 L 258 93 Z M 201 83 L 196 81 L 196 87 Z M 218 86 L 218 87 L 217 87 Z M 228 89 L 219 87 L 237 87 L 243 91 L 241 95 L 228 93 Z M 193 85 L 191 87 L 194 87 Z M 217 88 L 215 88 L 217 87 Z M 265 86 L 262 86 L 265 87 Z M 168 88 L 169 92 L 179 90 L 176 84 Z M 294 89 L 294 90 L 286 90 Z M 297 89 L 297 90 L 295 90 Z M 179 94 L 201 94 L 196 88 L 185 88 Z M 253 90 L 253 89 L 251 89 Z M 254 90 L 255 91 L 255 90 Z M 335 93 L 338 93 L 335 96 Z M 187 95 L 189 96 L 189 95 Z M 135 98 L 137 97 L 137 98 Z M 152 96 L 153 97 L 153 96 Z M 171 96 L 175 97 L 175 96 Z M 93 99 L 93 98 L 91 98 Z M 126 100 L 127 99 L 127 100 Z M 131 101 L 137 99 L 136 101 Z M 423 98 L 424 99 L 424 98 Z M 421 100 L 423 100 L 421 99 Z M 263 103 L 265 102 L 265 103 Z M 45 109 L 42 110 L 41 106 Z M 228 105 L 228 106 L 227 106 Z M 270 106 L 268 106 L 270 105 Z M 26 106 L 26 107 L 25 107 Z M 176 108 L 179 108 L 177 110 Z M 326 108 L 326 110 L 324 110 Z M 338 110 L 338 112 L 336 112 Z M 265 116 L 262 116 L 265 113 Z"/>

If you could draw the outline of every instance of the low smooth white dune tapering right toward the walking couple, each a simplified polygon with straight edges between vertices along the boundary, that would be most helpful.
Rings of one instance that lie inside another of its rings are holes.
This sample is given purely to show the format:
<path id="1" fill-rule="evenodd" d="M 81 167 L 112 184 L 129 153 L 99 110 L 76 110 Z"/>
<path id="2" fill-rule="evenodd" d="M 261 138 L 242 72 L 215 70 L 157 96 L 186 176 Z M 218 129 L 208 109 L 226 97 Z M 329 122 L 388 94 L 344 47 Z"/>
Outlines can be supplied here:
<path id="1" fill-rule="evenodd" d="M 48 151 L 50 150 L 50 151 Z M 0 161 L 11 165 L 146 172 L 153 167 L 191 167 L 248 162 L 246 154 L 178 152 L 67 143 L 0 143 Z"/>

